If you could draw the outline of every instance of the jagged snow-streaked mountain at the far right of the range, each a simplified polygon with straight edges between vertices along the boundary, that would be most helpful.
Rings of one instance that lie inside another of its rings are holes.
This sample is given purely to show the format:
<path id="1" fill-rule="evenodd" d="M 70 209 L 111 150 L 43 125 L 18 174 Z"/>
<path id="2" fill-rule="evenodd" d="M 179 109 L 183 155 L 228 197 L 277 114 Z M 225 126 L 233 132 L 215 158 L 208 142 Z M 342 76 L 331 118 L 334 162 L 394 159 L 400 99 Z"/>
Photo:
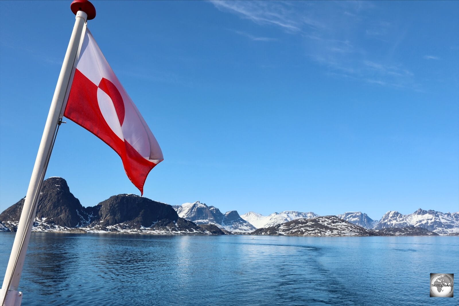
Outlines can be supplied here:
<path id="1" fill-rule="evenodd" d="M 459 233 L 459 212 L 443 213 L 418 209 L 412 214 L 402 215 L 398 211 L 387 211 L 375 226 L 381 228 L 403 228 L 414 226 L 428 229 L 437 234 Z"/>

